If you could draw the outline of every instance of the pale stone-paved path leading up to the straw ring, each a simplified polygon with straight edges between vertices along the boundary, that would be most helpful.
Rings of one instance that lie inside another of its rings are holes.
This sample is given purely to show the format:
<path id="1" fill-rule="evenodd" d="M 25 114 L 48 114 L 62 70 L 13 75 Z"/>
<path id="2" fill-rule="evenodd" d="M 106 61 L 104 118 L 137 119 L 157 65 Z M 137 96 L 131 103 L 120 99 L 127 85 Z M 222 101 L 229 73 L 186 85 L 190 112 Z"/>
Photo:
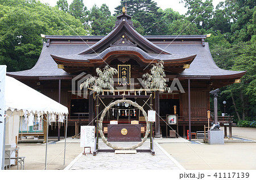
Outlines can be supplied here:
<path id="1" fill-rule="evenodd" d="M 131 147 L 138 142 L 112 142 L 118 147 Z M 111 149 L 99 139 L 99 149 Z M 150 149 L 150 140 L 147 139 L 139 149 Z M 184 168 L 157 142 L 154 142 L 155 156 L 150 152 L 137 154 L 115 154 L 113 152 L 99 152 L 97 156 L 82 155 L 75 158 L 65 170 L 179 170 Z"/>

